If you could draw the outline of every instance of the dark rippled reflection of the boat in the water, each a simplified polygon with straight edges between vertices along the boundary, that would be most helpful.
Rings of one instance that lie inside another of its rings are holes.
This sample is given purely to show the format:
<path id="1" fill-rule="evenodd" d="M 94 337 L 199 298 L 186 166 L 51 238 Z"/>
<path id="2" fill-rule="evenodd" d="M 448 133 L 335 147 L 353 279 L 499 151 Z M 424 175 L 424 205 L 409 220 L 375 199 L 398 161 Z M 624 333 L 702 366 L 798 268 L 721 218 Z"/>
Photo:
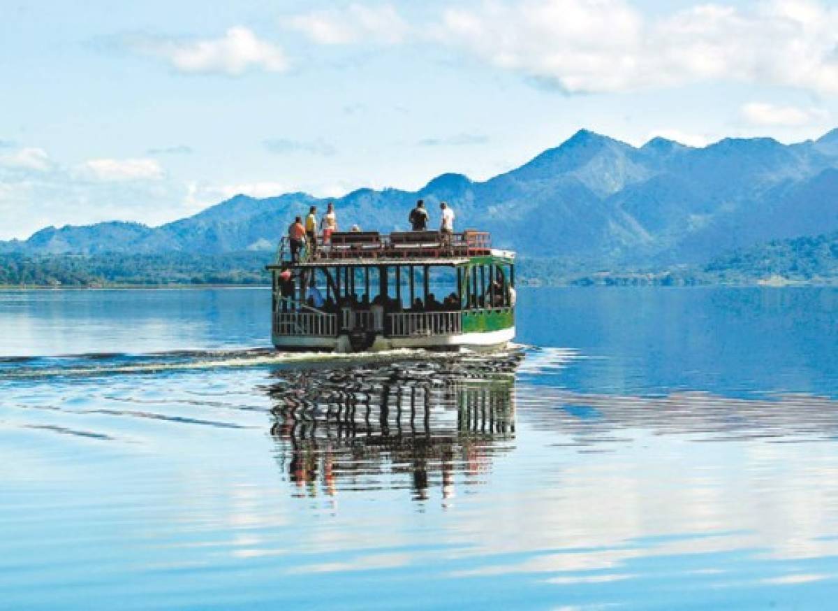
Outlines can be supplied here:
<path id="1" fill-rule="evenodd" d="M 268 389 L 283 473 L 300 494 L 411 488 L 453 494 L 515 438 L 518 353 L 284 370 Z"/>

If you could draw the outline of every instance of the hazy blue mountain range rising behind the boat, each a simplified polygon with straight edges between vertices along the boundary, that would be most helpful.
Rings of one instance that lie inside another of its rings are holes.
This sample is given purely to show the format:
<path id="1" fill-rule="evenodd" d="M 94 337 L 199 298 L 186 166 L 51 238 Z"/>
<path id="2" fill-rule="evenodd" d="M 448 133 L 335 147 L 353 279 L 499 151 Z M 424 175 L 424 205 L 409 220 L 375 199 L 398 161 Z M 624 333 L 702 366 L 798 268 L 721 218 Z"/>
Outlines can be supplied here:
<path id="1" fill-rule="evenodd" d="M 46 227 L 0 253 L 271 251 L 296 215 L 334 201 L 340 226 L 407 228 L 416 199 L 438 201 L 458 228 L 539 258 L 596 265 L 695 264 L 733 248 L 838 231 L 838 129 L 818 140 L 726 138 L 694 148 L 665 138 L 634 147 L 587 130 L 485 181 L 443 174 L 419 191 L 360 189 L 334 200 L 305 193 L 235 196 L 161 227 L 101 222 Z"/>

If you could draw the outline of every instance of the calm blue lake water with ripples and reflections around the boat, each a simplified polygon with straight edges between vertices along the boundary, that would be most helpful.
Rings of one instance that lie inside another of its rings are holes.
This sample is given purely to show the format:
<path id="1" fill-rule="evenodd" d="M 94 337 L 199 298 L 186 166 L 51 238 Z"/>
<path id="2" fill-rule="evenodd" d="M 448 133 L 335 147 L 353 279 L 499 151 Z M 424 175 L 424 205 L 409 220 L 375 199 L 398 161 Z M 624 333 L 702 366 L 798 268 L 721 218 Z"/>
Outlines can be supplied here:
<path id="1" fill-rule="evenodd" d="M 0 293 L 0 608 L 825 608 L 838 290 L 520 290 L 272 353 L 267 290 Z"/>

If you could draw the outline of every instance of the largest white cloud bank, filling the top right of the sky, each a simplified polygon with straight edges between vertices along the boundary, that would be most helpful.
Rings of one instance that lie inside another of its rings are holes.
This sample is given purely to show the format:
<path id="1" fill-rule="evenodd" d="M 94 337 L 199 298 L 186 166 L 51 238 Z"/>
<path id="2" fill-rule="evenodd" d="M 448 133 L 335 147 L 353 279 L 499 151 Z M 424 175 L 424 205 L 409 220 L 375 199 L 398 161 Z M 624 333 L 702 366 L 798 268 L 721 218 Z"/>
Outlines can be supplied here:
<path id="1" fill-rule="evenodd" d="M 487 1 L 444 11 L 437 39 L 570 93 L 706 80 L 838 93 L 838 8 L 810 0 L 654 19 L 626 0 Z"/>

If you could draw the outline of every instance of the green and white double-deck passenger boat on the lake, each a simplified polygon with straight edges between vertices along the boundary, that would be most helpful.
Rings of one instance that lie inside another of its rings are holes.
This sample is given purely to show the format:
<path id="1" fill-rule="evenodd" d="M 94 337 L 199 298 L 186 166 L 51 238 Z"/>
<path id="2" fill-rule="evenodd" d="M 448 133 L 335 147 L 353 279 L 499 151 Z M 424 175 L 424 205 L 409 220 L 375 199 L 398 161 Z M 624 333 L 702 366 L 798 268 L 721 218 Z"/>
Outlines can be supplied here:
<path id="1" fill-rule="evenodd" d="M 282 350 L 491 350 L 515 337 L 515 253 L 487 232 L 335 232 L 296 258 L 283 238 L 267 268 Z"/>

